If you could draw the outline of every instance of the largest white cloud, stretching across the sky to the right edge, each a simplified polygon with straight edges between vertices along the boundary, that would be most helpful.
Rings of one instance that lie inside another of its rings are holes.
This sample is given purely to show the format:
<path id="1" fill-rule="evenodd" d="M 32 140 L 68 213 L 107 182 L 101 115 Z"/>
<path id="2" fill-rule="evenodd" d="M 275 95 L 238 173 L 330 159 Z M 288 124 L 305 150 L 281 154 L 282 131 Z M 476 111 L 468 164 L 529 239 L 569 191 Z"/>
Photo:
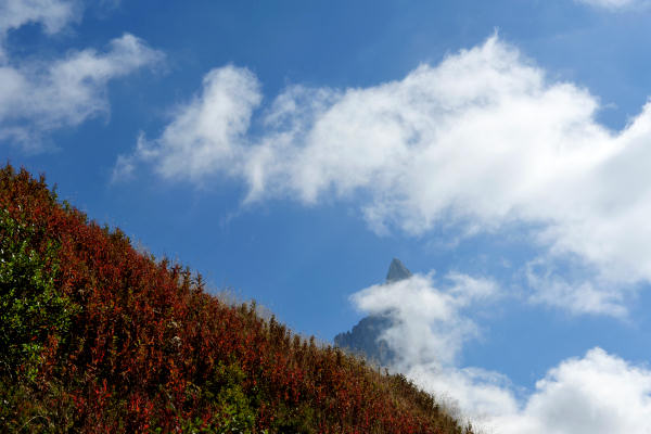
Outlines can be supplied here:
<path id="1" fill-rule="evenodd" d="M 584 281 L 547 276 L 576 312 L 624 315 L 626 295 L 651 281 L 651 104 L 611 131 L 595 119 L 596 97 L 550 81 L 496 36 L 401 80 L 290 87 L 253 135 L 260 101 L 248 71 L 214 69 L 159 138 L 120 156 L 116 174 L 138 162 L 196 183 L 226 174 L 248 184 L 247 203 L 359 197 L 376 231 L 523 224 L 548 264 L 572 257 L 590 270 Z"/>

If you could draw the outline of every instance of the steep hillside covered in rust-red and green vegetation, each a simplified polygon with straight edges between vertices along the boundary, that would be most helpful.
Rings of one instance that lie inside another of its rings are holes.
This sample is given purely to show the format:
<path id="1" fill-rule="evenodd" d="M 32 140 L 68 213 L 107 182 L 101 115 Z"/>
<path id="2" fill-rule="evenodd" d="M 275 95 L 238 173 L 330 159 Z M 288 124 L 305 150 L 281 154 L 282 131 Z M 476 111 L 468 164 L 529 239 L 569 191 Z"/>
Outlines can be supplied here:
<path id="1" fill-rule="evenodd" d="M 431 395 L 204 291 L 0 169 L 0 430 L 470 433 Z"/>

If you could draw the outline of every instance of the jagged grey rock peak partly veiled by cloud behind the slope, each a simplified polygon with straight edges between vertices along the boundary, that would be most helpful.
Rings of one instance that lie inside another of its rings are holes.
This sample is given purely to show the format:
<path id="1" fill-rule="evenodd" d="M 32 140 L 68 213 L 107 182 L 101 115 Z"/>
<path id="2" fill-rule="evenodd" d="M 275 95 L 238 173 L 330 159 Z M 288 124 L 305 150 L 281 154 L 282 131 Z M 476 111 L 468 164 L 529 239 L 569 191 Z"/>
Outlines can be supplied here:
<path id="1" fill-rule="evenodd" d="M 407 267 L 399 259 L 394 258 L 388 266 L 385 284 L 410 277 L 411 272 Z M 381 366 L 390 366 L 396 361 L 396 354 L 381 336 L 393 324 L 394 319 L 390 311 L 370 315 L 362 318 L 357 326 L 353 327 L 352 331 L 334 336 L 334 345 L 352 353 L 361 354 Z"/>

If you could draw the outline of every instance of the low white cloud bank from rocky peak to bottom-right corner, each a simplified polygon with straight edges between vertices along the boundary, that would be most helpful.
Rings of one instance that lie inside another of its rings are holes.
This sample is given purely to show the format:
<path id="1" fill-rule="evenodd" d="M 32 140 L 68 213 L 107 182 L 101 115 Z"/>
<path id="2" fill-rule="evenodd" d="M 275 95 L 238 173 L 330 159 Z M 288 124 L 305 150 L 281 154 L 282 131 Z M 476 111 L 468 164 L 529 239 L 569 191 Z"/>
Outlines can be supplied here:
<path id="1" fill-rule="evenodd" d="M 487 433 L 612 434 L 651 432 L 651 370 L 601 348 L 561 361 L 524 397 L 505 375 L 459 367 L 457 354 L 478 327 L 469 308 L 489 308 L 495 283 L 462 275 L 441 289 L 431 276 L 373 285 L 354 294 L 357 308 L 391 311 L 382 339 L 401 357 L 394 371 L 458 408 Z"/>

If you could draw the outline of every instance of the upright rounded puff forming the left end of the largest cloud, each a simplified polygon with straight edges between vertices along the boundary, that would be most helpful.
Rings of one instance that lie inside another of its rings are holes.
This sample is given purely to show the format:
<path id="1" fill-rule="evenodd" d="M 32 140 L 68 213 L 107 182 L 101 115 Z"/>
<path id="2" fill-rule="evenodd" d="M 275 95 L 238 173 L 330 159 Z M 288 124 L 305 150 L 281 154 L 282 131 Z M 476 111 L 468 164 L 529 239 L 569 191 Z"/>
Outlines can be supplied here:
<path id="1" fill-rule="evenodd" d="M 158 139 L 148 142 L 141 136 L 133 155 L 119 156 L 114 180 L 130 175 L 138 161 L 155 162 L 164 177 L 197 182 L 214 171 L 241 170 L 243 136 L 261 98 L 258 88 L 247 69 L 227 66 L 210 72 L 202 94 L 176 111 Z"/>

